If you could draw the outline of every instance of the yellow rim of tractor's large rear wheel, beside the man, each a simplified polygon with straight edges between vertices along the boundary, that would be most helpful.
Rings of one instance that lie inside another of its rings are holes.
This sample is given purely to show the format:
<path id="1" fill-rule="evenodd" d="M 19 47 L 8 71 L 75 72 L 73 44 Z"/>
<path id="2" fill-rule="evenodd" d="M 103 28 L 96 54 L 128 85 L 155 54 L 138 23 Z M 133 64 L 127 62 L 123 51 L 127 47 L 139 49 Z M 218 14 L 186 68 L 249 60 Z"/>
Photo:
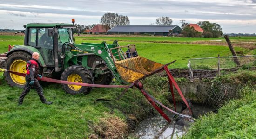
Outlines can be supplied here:
<path id="1" fill-rule="evenodd" d="M 27 63 L 24 60 L 15 60 L 10 66 L 10 71 L 27 73 L 26 65 Z M 26 83 L 25 77 L 11 74 L 11 73 L 10 73 L 10 76 L 13 82 L 15 82 L 16 84 L 24 85 Z"/>

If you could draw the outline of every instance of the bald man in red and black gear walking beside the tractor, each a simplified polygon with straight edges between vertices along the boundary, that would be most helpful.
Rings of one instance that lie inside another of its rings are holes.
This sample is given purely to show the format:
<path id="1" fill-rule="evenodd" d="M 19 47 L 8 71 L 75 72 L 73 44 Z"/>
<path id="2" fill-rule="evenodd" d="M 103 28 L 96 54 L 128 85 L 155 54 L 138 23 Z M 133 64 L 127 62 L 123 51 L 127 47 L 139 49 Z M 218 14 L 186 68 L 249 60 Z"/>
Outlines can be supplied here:
<path id="1" fill-rule="evenodd" d="M 22 94 L 20 95 L 19 98 L 19 105 L 22 105 L 23 103 L 23 99 L 24 97 L 29 93 L 31 87 L 35 88 L 37 91 L 37 94 L 40 97 L 40 100 L 42 101 L 42 103 L 45 104 L 52 104 L 53 102 L 48 102 L 46 101 L 44 94 L 43 94 L 43 88 L 41 87 L 41 85 L 39 84 L 37 77 L 42 78 L 42 76 L 40 74 L 38 74 L 38 59 L 39 59 L 39 53 L 38 52 L 34 52 L 32 54 L 32 59 L 29 60 L 29 62 L 27 62 L 27 73 L 25 76 L 26 79 L 26 84 L 24 87 L 24 90 L 22 92 Z"/>

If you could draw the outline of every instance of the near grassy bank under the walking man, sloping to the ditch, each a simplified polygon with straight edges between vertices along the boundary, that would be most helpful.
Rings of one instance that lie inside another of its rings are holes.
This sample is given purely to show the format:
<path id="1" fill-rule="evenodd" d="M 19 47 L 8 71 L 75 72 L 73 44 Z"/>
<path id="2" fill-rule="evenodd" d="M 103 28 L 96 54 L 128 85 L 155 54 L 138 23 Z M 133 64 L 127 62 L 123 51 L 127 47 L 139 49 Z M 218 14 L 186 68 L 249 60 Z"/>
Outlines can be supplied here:
<path id="1" fill-rule="evenodd" d="M 120 138 L 135 124 L 156 111 L 137 89 L 93 88 L 88 95 L 69 95 L 59 84 L 42 83 L 44 95 L 53 105 L 40 102 L 33 89 L 18 106 L 21 88 L 9 87 L 0 76 L 0 139 L 82 139 L 92 133 Z M 161 97 L 162 98 L 162 97 Z M 164 101 L 167 102 L 167 101 Z"/>

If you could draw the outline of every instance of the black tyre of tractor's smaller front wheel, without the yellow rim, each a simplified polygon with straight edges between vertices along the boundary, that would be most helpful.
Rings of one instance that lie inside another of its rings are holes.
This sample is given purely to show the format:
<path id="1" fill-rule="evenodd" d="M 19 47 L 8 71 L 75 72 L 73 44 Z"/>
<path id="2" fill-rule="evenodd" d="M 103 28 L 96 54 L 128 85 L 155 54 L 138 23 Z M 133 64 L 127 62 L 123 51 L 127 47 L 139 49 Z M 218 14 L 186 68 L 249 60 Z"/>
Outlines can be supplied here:
<path id="1" fill-rule="evenodd" d="M 61 74 L 61 80 L 67 81 L 67 78 L 72 74 L 79 75 L 83 83 L 92 83 L 91 72 L 79 65 L 73 65 L 65 69 Z M 71 89 L 67 84 L 63 84 L 63 89 L 68 94 L 76 95 L 79 93 L 88 94 L 91 91 L 92 87 L 82 86 L 79 90 L 74 90 L 74 89 Z"/>

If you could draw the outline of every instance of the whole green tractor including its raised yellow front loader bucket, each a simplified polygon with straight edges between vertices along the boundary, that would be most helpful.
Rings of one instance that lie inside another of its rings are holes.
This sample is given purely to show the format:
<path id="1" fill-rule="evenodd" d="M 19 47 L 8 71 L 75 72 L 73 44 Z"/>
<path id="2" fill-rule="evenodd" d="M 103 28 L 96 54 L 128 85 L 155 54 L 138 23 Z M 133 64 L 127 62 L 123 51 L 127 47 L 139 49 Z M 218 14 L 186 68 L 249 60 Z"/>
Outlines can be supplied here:
<path id="1" fill-rule="evenodd" d="M 44 77 L 64 81 L 109 85 L 113 77 L 121 83 L 132 83 L 164 65 L 139 57 L 135 45 L 120 47 L 113 44 L 75 44 L 73 24 L 27 24 L 24 25 L 24 45 L 14 45 L 0 55 L 0 66 L 26 73 L 26 63 L 33 52 L 40 54 L 40 73 Z M 19 33 L 19 32 L 16 32 Z M 122 51 L 122 48 L 128 51 Z M 25 77 L 9 72 L 4 74 L 11 86 L 23 87 Z M 69 94 L 90 92 L 91 87 L 63 84 Z"/>

